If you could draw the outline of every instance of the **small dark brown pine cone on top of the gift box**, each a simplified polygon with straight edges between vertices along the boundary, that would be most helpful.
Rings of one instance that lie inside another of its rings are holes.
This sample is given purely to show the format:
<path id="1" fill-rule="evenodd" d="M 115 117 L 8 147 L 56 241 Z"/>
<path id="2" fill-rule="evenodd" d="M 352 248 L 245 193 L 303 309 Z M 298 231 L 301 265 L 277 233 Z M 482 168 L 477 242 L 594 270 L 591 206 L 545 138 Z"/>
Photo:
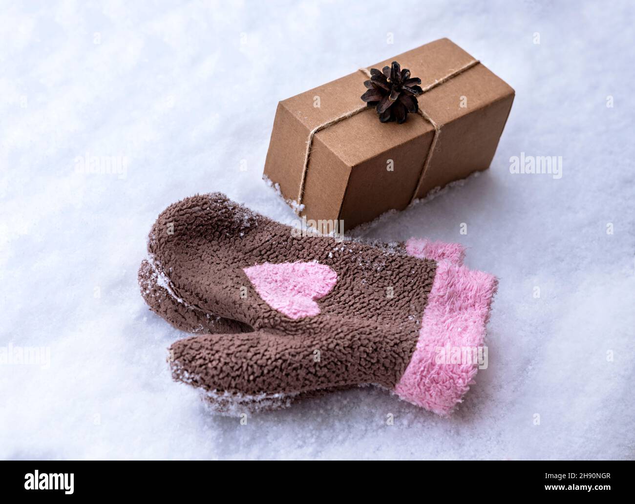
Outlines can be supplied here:
<path id="1" fill-rule="evenodd" d="M 368 107 L 377 107 L 382 123 L 404 123 L 408 112 L 415 113 L 419 109 L 415 96 L 424 92 L 417 85 L 421 84 L 421 79 L 410 77 L 410 70 L 401 70 L 396 61 L 392 62 L 392 67 L 384 67 L 382 72 L 370 69 L 370 81 L 364 82 L 368 91 L 361 99 Z"/>

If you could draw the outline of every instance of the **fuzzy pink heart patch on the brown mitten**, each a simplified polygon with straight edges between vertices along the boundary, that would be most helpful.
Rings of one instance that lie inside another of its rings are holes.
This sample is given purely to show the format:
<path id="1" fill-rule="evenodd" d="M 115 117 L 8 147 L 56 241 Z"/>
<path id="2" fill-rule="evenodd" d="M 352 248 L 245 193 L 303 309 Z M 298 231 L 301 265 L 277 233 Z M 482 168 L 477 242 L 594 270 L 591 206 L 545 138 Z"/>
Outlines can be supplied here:
<path id="1" fill-rule="evenodd" d="M 337 273 L 325 264 L 297 262 L 244 268 L 260 297 L 290 319 L 319 314 L 315 300 L 323 298 L 337 282 Z"/>

